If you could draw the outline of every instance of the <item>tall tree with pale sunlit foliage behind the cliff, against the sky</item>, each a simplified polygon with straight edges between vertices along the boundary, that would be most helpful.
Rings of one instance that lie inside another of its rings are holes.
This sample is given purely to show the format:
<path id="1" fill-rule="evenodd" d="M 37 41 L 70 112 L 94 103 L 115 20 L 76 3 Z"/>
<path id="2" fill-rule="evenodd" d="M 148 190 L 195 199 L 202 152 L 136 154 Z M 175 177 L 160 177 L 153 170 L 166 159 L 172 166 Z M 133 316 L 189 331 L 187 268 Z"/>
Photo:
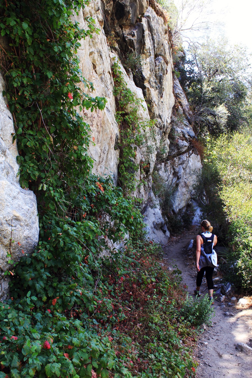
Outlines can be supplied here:
<path id="1" fill-rule="evenodd" d="M 230 48 L 226 39 L 207 39 L 191 46 L 182 86 L 193 108 L 195 127 L 218 135 L 248 123 L 250 64 L 244 47 Z"/>

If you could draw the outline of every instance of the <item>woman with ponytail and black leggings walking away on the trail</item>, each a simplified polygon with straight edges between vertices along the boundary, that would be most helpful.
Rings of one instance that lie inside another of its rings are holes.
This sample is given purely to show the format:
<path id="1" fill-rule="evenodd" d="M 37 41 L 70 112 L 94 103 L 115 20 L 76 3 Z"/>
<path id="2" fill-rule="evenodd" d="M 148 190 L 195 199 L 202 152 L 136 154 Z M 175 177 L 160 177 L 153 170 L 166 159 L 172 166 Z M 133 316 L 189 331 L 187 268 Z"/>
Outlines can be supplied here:
<path id="1" fill-rule="evenodd" d="M 212 234 L 213 227 L 208 220 L 201 222 L 201 235 L 196 237 L 196 269 L 198 271 L 196 278 L 196 289 L 194 294 L 201 296 L 200 286 L 204 273 L 206 273 L 207 288 L 209 292 L 209 299 L 213 304 L 213 270 L 212 266 L 209 266 L 209 261 L 206 259 L 206 254 L 211 254 L 213 247 L 217 243 L 217 236 Z M 201 253 L 203 248 L 203 253 Z"/>

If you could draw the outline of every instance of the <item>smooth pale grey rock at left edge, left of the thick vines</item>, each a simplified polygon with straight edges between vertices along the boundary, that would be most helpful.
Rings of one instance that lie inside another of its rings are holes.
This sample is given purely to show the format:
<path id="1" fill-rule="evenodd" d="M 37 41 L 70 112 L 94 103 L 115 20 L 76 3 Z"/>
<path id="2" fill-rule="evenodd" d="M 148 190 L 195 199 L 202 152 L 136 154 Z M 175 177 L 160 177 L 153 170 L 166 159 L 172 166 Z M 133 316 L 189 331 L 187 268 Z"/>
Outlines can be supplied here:
<path id="1" fill-rule="evenodd" d="M 37 201 L 33 192 L 19 185 L 14 126 L 3 89 L 0 75 L 0 301 L 8 296 L 8 276 L 4 276 L 12 267 L 8 261 L 32 253 L 39 239 Z"/>

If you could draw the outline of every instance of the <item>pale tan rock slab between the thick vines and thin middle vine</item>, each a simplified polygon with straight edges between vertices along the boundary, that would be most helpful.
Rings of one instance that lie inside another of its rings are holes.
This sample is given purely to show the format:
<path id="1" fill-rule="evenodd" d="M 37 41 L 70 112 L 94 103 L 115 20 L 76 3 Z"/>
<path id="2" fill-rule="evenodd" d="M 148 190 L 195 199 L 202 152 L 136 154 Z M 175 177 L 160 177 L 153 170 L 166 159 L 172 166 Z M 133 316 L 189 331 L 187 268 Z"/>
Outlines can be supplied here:
<path id="1" fill-rule="evenodd" d="M 91 136 L 89 153 L 94 159 L 93 173 L 97 175 L 111 175 L 117 182 L 117 165 L 119 150 L 116 144 L 119 139 L 119 129 L 115 118 L 116 104 L 113 96 L 114 82 L 111 73 L 110 51 L 103 31 L 102 3 L 100 0 L 90 2 L 83 12 L 79 12 L 77 21 L 80 28 L 86 28 L 85 17 L 91 16 L 100 33 L 93 34 L 80 41 L 78 50 L 80 69 L 83 76 L 94 85 L 94 91 L 89 91 L 83 85 L 83 91 L 90 96 L 100 96 L 107 99 L 104 110 L 85 110 L 82 112 L 84 120 L 90 125 Z M 94 138 L 94 145 L 92 143 Z"/>

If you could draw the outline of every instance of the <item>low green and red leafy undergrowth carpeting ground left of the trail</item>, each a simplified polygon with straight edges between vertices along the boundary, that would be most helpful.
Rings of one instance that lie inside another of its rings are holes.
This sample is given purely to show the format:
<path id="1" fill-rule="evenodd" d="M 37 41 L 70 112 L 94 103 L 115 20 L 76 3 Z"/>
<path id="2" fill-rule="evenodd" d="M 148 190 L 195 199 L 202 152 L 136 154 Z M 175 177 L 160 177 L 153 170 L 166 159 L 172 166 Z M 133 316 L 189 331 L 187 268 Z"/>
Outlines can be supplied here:
<path id="1" fill-rule="evenodd" d="M 30 291 L 3 304 L 3 376 L 192 376 L 196 363 L 180 343 L 193 336 L 179 312 L 184 293 L 158 252 L 152 242 L 131 240 L 125 253 L 97 259 L 96 291 L 83 288 L 85 305 L 71 310 L 57 310 L 61 297 L 37 307 Z"/>

